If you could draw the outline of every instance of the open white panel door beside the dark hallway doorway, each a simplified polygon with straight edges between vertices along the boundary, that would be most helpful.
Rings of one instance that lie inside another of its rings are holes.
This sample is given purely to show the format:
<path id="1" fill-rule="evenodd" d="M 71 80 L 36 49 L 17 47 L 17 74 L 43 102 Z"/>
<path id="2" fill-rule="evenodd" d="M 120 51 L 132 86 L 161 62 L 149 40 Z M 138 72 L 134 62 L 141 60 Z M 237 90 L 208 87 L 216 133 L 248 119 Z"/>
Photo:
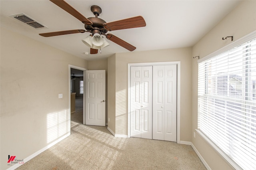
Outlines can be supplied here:
<path id="1" fill-rule="evenodd" d="M 86 125 L 106 126 L 105 70 L 86 70 Z"/>

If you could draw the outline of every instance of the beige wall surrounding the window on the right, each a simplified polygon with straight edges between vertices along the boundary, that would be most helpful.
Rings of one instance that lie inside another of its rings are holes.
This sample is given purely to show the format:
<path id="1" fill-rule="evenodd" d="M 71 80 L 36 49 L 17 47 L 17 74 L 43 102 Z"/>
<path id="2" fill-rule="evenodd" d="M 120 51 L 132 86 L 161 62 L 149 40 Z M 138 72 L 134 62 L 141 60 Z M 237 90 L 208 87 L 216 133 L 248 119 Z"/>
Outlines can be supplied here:
<path id="1" fill-rule="evenodd" d="M 234 41 L 256 30 L 256 1 L 243 1 L 221 22 L 194 45 L 193 56 L 200 58 L 231 43 L 231 40 L 222 40 L 222 37 L 234 36 Z M 198 89 L 197 59 L 192 60 L 192 131 L 197 128 L 197 89 Z M 192 143 L 200 152 L 212 170 L 232 169 L 200 136 L 192 137 Z"/>

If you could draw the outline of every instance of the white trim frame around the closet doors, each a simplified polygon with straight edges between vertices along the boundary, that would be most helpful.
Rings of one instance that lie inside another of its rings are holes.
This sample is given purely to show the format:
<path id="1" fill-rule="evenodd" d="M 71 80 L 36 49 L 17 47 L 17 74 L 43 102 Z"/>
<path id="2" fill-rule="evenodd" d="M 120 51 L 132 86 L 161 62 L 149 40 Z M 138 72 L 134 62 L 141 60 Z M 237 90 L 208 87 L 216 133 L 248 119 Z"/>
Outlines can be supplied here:
<path id="1" fill-rule="evenodd" d="M 131 134 L 130 134 L 130 115 L 131 115 L 130 69 L 133 66 L 154 66 L 154 65 L 177 65 L 177 143 L 180 144 L 180 61 L 153 62 L 153 63 L 129 63 L 128 64 L 128 138 L 131 137 Z"/>

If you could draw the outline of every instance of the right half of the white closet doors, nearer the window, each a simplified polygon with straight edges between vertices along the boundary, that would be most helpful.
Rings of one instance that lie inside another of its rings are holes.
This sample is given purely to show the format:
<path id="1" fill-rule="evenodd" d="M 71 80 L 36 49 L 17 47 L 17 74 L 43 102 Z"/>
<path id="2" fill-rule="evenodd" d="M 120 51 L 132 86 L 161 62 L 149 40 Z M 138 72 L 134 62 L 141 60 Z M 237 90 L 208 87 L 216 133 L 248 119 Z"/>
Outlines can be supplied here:
<path id="1" fill-rule="evenodd" d="M 177 66 L 153 66 L 152 138 L 176 142 Z"/>

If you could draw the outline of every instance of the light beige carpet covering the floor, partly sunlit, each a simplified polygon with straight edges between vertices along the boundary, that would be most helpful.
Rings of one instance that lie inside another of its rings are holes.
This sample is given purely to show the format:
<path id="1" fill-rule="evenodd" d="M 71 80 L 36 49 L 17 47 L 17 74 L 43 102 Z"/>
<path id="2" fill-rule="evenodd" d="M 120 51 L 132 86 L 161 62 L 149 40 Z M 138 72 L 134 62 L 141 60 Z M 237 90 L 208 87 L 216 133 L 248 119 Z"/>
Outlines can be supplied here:
<path id="1" fill-rule="evenodd" d="M 206 170 L 191 146 L 118 138 L 107 127 L 85 126 L 81 115 L 73 117 L 70 136 L 18 170 Z"/>

